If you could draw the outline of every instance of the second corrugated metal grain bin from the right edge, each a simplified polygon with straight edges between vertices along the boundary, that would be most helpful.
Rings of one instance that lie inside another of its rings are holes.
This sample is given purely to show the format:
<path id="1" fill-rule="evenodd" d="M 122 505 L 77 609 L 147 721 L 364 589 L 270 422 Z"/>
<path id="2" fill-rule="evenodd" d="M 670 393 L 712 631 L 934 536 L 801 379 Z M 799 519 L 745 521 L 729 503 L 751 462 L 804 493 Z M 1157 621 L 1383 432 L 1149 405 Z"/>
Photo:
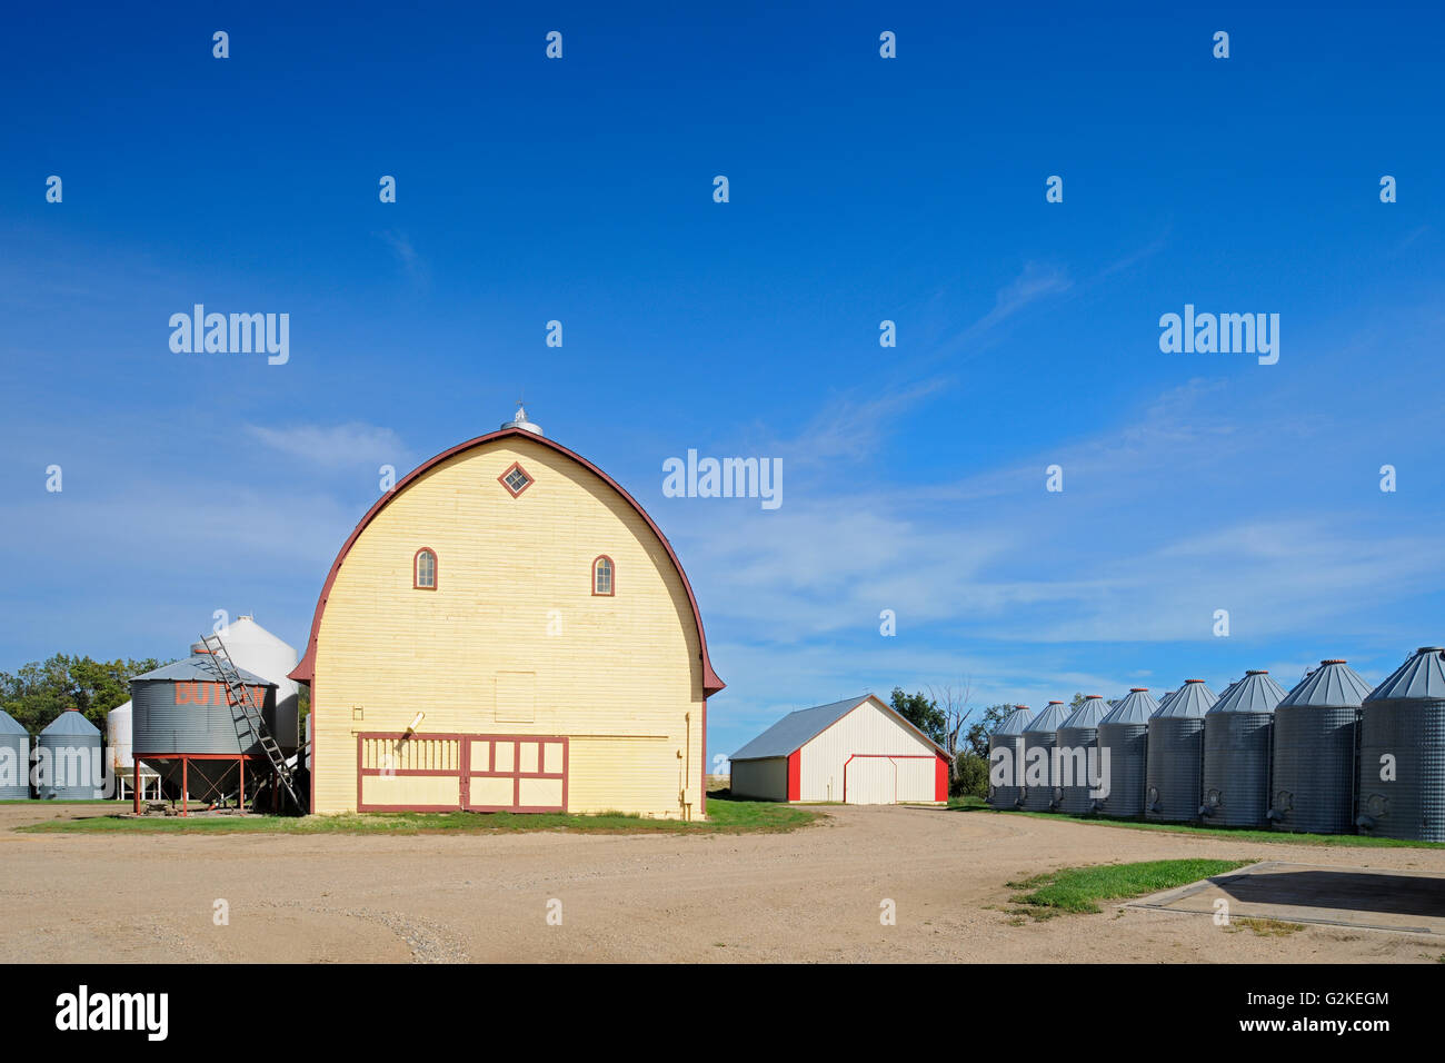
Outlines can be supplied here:
<path id="1" fill-rule="evenodd" d="M 1270 824 L 1354 833 L 1355 748 L 1367 684 L 1344 661 L 1321 661 L 1274 709 Z"/>

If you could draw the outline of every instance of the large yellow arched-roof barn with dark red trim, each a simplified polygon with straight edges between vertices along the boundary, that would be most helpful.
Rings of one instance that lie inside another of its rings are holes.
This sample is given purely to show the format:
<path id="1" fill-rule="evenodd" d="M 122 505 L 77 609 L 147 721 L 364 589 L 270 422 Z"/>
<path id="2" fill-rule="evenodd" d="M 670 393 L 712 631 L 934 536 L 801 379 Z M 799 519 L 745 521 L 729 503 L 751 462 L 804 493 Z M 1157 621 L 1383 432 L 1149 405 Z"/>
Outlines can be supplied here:
<path id="1" fill-rule="evenodd" d="M 316 602 L 311 810 L 707 814 L 722 681 L 668 539 L 519 409 L 425 461 Z"/>

